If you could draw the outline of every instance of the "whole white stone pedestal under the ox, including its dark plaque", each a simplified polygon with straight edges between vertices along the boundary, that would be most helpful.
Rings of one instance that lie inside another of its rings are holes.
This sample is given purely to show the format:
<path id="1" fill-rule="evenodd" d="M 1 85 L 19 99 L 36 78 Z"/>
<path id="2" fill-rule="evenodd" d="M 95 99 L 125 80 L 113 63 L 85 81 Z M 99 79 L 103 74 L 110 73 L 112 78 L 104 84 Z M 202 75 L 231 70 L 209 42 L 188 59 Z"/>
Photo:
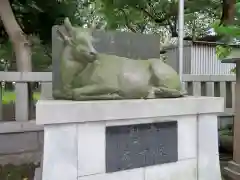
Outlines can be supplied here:
<path id="1" fill-rule="evenodd" d="M 220 180 L 216 97 L 37 103 L 42 180 Z"/>

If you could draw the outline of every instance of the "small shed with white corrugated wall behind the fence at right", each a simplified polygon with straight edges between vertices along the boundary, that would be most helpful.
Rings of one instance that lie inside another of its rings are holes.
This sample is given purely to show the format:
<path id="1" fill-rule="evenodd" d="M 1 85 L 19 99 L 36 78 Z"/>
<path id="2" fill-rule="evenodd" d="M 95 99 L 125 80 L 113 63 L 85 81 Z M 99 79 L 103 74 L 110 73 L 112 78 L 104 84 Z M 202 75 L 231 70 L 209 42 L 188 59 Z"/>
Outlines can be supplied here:
<path id="1" fill-rule="evenodd" d="M 216 55 L 216 43 L 184 41 L 183 73 L 192 75 L 232 75 L 234 63 L 221 63 Z M 179 69 L 178 46 L 166 48 L 167 64 Z"/>

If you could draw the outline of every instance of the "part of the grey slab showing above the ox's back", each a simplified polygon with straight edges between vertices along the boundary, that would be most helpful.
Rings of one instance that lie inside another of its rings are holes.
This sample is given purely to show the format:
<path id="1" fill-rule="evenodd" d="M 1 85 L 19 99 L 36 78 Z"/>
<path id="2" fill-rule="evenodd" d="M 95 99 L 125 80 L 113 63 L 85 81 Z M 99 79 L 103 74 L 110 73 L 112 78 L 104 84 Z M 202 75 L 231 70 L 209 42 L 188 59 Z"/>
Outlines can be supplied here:
<path id="1" fill-rule="evenodd" d="M 95 49 L 133 59 L 159 58 L 160 38 L 157 35 L 120 31 L 94 31 Z M 144 42 L 144 44 L 143 44 Z"/>

